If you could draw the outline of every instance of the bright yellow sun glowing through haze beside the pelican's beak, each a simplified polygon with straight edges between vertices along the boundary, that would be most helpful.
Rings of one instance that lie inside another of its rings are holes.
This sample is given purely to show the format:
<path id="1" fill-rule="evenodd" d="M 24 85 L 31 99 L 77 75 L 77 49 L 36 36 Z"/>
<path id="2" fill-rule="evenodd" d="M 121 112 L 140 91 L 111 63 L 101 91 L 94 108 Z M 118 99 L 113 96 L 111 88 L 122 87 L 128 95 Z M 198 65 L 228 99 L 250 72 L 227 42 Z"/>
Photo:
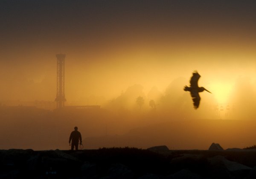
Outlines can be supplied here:
<path id="1" fill-rule="evenodd" d="M 218 104 L 227 104 L 233 84 L 227 82 L 214 82 L 209 86 Z"/>

